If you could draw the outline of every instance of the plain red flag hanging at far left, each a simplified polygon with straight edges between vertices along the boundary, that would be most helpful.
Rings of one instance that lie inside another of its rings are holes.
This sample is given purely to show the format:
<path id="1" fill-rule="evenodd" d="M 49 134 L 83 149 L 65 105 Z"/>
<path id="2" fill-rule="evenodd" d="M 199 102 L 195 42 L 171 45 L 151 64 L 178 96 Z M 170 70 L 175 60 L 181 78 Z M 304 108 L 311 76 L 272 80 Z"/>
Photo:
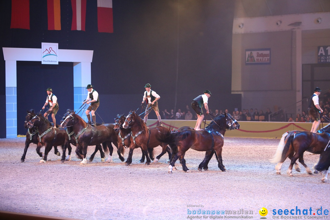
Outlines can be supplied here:
<path id="1" fill-rule="evenodd" d="M 30 0 L 12 0 L 10 28 L 30 30 Z"/>

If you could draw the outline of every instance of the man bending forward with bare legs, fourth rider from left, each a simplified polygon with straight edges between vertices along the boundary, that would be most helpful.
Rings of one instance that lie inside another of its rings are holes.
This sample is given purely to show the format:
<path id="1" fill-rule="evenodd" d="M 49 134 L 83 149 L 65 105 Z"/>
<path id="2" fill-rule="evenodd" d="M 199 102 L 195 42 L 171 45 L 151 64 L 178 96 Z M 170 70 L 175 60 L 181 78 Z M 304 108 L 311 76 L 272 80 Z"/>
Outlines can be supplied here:
<path id="1" fill-rule="evenodd" d="M 195 126 L 195 130 L 196 131 L 201 131 L 202 129 L 200 129 L 201 127 L 201 123 L 204 119 L 204 114 L 203 114 L 203 104 L 204 107 L 206 109 L 206 113 L 209 113 L 209 107 L 207 105 L 209 98 L 211 97 L 211 92 L 210 90 L 205 90 L 204 94 L 197 96 L 196 98 L 194 98 L 191 102 L 191 107 L 193 110 L 195 110 L 195 112 L 197 113 L 197 122 L 196 122 L 196 126 Z"/>

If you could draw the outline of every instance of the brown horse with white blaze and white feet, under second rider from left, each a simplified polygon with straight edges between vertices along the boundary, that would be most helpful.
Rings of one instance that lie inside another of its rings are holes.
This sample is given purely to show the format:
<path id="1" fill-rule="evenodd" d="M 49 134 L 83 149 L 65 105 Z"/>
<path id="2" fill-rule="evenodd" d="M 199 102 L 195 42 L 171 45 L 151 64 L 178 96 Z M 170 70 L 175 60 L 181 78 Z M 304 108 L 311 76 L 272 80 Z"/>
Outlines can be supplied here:
<path id="1" fill-rule="evenodd" d="M 108 161 L 112 161 L 112 153 L 113 146 L 112 143 L 118 148 L 117 136 L 118 133 L 114 131 L 114 124 L 102 124 L 99 126 L 91 126 L 87 124 L 82 117 L 80 117 L 75 112 L 71 112 L 65 120 L 61 123 L 61 127 L 72 127 L 75 132 L 75 139 L 79 145 L 82 146 L 83 159 L 81 164 L 86 164 L 86 154 L 87 154 L 87 146 L 90 145 L 99 145 L 101 143 L 106 142 L 106 145 L 109 148 L 109 159 Z M 104 146 L 105 147 L 105 146 Z M 79 153 L 79 148 L 76 148 L 76 153 Z M 119 157 L 121 155 L 118 152 Z M 121 161 L 123 161 L 123 157 Z"/>

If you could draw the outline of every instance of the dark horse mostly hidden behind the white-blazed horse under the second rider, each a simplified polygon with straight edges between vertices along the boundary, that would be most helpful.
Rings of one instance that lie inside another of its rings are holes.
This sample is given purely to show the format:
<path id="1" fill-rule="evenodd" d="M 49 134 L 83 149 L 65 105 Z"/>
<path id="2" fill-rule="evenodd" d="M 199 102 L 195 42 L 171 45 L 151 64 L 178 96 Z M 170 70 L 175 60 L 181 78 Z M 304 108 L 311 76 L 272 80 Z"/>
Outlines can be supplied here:
<path id="1" fill-rule="evenodd" d="M 71 113 L 73 112 L 73 110 L 71 109 L 67 109 L 66 113 L 63 115 L 62 119 L 61 119 L 61 123 L 64 121 L 64 119 Z M 101 125 L 101 124 L 98 124 L 96 123 L 96 125 Z M 76 146 L 77 148 L 79 148 L 79 153 L 77 155 L 77 157 L 79 159 L 83 159 L 83 154 L 82 154 L 82 146 L 78 145 L 77 146 L 77 142 L 76 142 L 76 139 L 75 139 L 75 132 L 74 130 L 72 129 L 72 127 L 67 127 L 66 128 L 66 131 L 67 131 L 67 134 L 68 134 L 68 141 L 73 144 L 74 146 Z M 105 143 L 102 143 L 102 145 L 105 144 Z M 106 148 L 104 145 L 103 145 L 103 148 Z M 68 146 L 68 156 L 65 158 L 65 152 L 66 152 L 66 147 L 63 148 L 63 156 L 62 156 L 62 161 L 66 160 L 66 161 L 69 161 L 71 160 L 71 151 L 72 151 L 72 147 L 69 145 Z M 92 153 L 92 155 L 90 155 L 89 157 L 89 162 L 92 162 L 93 159 L 94 159 L 94 156 L 96 154 L 97 151 L 100 151 L 100 154 L 101 154 L 101 161 L 103 162 L 105 160 L 105 153 L 103 152 L 102 150 L 102 147 L 101 145 L 96 145 L 95 146 L 95 150 L 94 152 Z"/>

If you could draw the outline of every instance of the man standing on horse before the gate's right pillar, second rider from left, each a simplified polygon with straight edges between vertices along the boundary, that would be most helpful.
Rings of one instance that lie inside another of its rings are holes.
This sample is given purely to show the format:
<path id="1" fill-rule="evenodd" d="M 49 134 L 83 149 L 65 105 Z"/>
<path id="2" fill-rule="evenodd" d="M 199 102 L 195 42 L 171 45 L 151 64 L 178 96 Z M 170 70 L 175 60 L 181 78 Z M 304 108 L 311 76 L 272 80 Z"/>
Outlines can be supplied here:
<path id="1" fill-rule="evenodd" d="M 100 99 L 99 99 L 99 94 L 96 92 L 96 90 L 93 89 L 93 86 L 91 84 L 88 84 L 86 87 L 88 93 L 87 93 L 87 98 L 83 103 L 89 104 L 89 107 L 86 110 L 86 115 L 88 119 L 88 124 L 91 124 L 92 126 L 96 126 L 96 121 L 95 121 L 95 111 L 100 105 Z M 91 123 L 90 121 L 90 114 L 89 112 L 92 112 L 92 120 L 93 122 Z"/>

